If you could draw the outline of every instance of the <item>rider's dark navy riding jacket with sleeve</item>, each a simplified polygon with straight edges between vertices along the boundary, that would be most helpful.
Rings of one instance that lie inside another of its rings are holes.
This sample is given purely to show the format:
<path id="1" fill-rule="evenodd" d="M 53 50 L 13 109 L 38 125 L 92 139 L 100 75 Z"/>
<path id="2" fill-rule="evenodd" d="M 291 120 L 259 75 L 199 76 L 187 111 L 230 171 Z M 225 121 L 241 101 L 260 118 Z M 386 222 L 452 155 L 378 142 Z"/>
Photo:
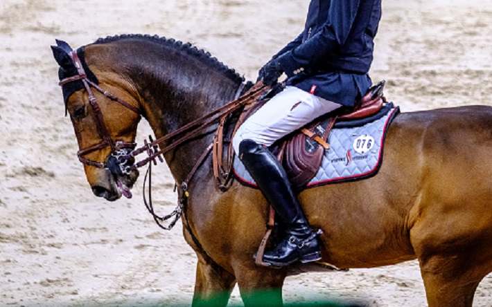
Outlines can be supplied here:
<path id="1" fill-rule="evenodd" d="M 312 0 L 304 31 L 274 56 L 288 85 L 346 106 L 369 89 L 381 0 Z"/>

